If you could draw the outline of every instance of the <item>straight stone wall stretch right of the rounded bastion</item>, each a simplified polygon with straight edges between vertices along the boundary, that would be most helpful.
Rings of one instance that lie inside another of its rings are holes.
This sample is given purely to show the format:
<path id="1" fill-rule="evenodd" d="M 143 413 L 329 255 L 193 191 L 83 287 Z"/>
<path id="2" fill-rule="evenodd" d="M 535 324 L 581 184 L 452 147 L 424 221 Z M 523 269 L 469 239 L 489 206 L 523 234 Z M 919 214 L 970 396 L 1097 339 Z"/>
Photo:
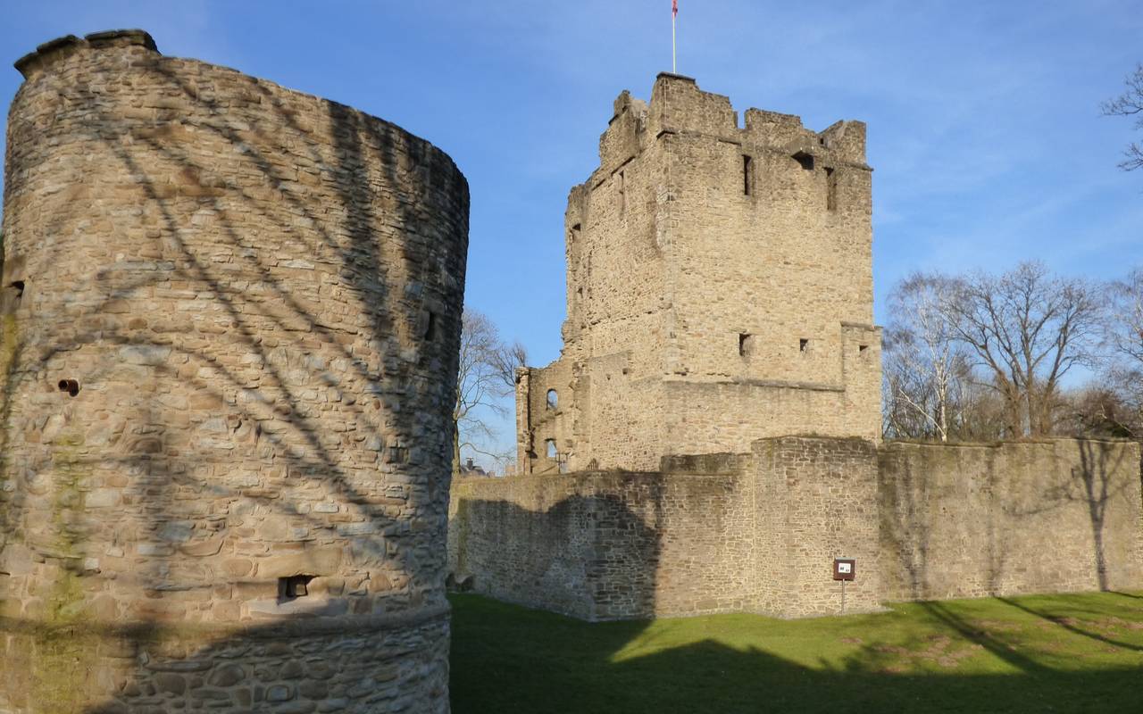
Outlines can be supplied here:
<path id="1" fill-rule="evenodd" d="M 893 443 L 879 479 L 887 600 L 1143 587 L 1136 443 Z"/>

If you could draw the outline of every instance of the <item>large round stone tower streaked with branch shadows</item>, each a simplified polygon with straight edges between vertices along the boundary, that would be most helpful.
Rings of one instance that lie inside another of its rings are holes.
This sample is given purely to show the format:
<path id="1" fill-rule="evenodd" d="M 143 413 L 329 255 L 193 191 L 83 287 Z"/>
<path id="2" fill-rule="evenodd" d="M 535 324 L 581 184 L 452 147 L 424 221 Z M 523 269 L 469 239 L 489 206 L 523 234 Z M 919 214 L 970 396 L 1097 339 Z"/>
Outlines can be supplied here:
<path id="1" fill-rule="evenodd" d="M 464 177 L 139 31 L 16 66 L 0 712 L 447 712 Z"/>

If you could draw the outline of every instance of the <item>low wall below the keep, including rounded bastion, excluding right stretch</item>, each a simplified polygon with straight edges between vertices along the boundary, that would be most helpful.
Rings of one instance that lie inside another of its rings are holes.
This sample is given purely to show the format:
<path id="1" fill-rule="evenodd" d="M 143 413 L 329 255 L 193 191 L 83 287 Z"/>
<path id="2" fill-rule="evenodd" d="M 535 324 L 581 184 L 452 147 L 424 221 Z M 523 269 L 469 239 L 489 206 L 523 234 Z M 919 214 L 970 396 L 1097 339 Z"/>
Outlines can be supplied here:
<path id="1" fill-rule="evenodd" d="M 450 568 L 475 592 L 589 620 L 759 611 L 837 613 L 832 559 L 877 608 L 876 452 L 782 438 L 753 455 L 665 458 L 657 472 L 454 483 Z M 470 579 L 471 578 L 471 579 Z"/>

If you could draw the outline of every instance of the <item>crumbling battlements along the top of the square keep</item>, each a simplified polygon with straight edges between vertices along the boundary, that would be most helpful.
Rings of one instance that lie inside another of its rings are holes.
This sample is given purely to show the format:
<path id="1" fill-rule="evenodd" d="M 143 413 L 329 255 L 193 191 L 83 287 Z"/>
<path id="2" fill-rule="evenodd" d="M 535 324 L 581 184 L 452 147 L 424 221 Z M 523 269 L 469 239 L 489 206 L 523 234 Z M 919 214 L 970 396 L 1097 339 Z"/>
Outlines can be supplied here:
<path id="1" fill-rule="evenodd" d="M 730 98 L 703 91 L 694 78 L 661 72 L 650 102 L 623 90 L 599 139 L 599 173 L 607 175 L 664 135 L 698 135 L 738 144 L 744 151 L 773 151 L 809 158 L 830 166 L 865 163 L 865 123 L 838 121 L 822 131 L 802 126 L 801 118 L 759 109 L 744 112 L 744 126 Z"/>

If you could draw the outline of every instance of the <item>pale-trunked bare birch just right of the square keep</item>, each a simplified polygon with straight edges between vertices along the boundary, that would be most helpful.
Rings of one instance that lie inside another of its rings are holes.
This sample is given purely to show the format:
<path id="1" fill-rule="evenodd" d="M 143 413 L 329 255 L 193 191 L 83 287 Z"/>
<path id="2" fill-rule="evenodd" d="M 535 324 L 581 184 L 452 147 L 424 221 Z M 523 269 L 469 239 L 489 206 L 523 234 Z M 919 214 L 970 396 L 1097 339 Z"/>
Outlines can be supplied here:
<path id="1" fill-rule="evenodd" d="M 894 435 L 948 441 L 959 422 L 968 361 L 946 308 L 954 289 L 948 278 L 914 273 L 889 295 L 885 375 Z"/>

